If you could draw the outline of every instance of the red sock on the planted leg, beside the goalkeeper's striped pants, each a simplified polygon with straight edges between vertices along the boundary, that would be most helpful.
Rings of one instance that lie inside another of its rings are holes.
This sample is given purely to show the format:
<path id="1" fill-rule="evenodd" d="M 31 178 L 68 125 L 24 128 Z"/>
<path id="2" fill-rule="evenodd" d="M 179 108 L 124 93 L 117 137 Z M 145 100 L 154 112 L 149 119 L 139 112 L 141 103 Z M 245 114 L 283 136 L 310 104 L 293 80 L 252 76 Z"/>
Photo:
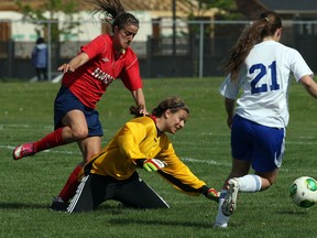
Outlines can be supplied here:
<path id="1" fill-rule="evenodd" d="M 58 196 L 62 197 L 64 202 L 68 202 L 75 195 L 77 186 L 79 185 L 78 174 L 81 171 L 81 169 L 83 167 L 80 165 L 77 165 L 75 167 L 75 170 L 69 175 L 66 184 L 64 185 L 63 190 L 61 191 Z"/>

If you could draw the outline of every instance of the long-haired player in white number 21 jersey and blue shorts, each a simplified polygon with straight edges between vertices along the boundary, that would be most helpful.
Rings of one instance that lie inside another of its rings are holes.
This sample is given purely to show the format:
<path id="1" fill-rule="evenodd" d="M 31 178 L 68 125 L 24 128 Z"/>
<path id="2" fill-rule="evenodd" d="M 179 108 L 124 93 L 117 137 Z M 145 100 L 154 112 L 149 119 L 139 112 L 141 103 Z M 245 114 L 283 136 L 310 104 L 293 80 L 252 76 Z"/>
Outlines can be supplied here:
<path id="1" fill-rule="evenodd" d="M 221 191 L 215 227 L 228 226 L 239 192 L 267 190 L 277 177 L 289 117 L 291 73 L 317 98 L 313 72 L 296 50 L 278 43 L 281 34 L 281 18 L 262 13 L 241 34 L 226 64 L 228 76 L 219 90 L 231 129 L 232 169 Z M 250 167 L 254 174 L 249 174 Z"/>

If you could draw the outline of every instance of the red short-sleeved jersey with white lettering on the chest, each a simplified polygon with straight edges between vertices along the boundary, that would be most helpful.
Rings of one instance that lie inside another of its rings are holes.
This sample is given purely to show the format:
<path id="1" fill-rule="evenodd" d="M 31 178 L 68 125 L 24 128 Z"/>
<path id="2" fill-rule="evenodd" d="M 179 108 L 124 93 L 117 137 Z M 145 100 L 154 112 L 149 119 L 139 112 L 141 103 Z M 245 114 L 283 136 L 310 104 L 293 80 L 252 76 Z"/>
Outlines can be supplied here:
<path id="1" fill-rule="evenodd" d="M 114 58 L 116 51 L 110 35 L 99 35 L 88 44 L 81 46 L 89 61 L 75 72 L 65 73 L 62 85 L 87 107 L 96 108 L 107 87 L 121 78 L 129 90 L 142 88 L 139 61 L 132 48 L 128 47 L 119 58 Z"/>

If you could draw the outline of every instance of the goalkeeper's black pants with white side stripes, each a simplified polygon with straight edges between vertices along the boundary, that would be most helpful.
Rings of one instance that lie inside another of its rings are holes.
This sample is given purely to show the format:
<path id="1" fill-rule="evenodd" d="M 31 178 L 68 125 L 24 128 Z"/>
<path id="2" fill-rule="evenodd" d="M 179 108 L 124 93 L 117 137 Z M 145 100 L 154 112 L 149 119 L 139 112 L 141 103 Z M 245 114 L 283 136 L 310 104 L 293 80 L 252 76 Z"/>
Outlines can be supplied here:
<path id="1" fill-rule="evenodd" d="M 135 208 L 170 208 L 168 204 L 134 172 L 125 181 L 97 174 L 84 176 L 67 212 L 90 212 L 108 199 Z"/>

